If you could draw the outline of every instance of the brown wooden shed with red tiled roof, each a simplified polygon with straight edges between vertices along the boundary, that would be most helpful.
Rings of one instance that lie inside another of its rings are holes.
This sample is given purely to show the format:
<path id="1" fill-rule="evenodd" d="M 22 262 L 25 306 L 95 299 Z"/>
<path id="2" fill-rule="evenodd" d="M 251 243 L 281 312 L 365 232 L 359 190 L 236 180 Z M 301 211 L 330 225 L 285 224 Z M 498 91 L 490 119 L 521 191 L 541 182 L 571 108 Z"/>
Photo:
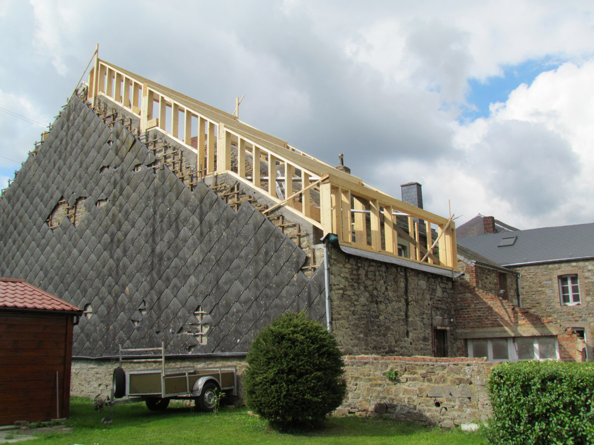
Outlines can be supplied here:
<path id="1" fill-rule="evenodd" d="M 82 313 L 22 279 L 0 278 L 0 425 L 68 417 L 72 326 Z"/>

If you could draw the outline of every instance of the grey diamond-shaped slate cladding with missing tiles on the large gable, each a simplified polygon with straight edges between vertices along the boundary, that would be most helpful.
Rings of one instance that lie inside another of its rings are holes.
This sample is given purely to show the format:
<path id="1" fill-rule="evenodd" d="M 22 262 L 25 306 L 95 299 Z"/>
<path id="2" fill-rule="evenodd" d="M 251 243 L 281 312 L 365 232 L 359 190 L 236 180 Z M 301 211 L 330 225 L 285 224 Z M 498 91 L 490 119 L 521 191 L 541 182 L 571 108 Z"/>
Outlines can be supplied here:
<path id="1" fill-rule="evenodd" d="M 0 275 L 86 309 L 75 356 L 162 341 L 168 354 L 245 352 L 283 311 L 325 322 L 324 268 L 306 278 L 304 252 L 260 212 L 191 192 L 154 160 L 73 96 L 0 201 Z M 86 213 L 52 230 L 61 198 Z"/>

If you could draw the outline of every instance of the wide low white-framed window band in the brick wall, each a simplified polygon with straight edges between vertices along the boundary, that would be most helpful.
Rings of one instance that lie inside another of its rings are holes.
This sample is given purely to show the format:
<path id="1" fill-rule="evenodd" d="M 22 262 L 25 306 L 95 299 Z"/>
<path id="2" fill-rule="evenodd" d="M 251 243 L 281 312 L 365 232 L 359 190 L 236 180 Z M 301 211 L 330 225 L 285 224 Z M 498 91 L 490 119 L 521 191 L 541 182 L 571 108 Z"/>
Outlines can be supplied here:
<path id="1" fill-rule="evenodd" d="M 489 361 L 558 359 L 559 345 L 555 336 L 469 339 L 468 357 Z"/>

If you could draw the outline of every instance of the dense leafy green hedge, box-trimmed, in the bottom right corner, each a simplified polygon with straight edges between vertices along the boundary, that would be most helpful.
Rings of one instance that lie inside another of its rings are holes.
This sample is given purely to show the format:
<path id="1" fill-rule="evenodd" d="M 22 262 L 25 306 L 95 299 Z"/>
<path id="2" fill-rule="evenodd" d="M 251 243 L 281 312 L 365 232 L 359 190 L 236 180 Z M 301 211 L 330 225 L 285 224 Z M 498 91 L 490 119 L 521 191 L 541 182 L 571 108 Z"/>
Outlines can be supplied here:
<path id="1" fill-rule="evenodd" d="M 488 389 L 492 443 L 594 443 L 594 363 L 503 363 Z"/>

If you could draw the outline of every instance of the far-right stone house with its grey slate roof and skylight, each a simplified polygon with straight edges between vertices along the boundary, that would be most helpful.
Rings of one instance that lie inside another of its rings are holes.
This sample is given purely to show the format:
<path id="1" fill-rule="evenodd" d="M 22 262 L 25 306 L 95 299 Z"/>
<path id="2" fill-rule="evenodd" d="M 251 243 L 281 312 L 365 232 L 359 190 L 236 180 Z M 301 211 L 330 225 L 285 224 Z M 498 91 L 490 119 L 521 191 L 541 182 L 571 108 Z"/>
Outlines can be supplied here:
<path id="1" fill-rule="evenodd" d="M 570 328 L 593 357 L 594 224 L 495 233 L 458 241 L 520 276 L 519 303 Z"/>

